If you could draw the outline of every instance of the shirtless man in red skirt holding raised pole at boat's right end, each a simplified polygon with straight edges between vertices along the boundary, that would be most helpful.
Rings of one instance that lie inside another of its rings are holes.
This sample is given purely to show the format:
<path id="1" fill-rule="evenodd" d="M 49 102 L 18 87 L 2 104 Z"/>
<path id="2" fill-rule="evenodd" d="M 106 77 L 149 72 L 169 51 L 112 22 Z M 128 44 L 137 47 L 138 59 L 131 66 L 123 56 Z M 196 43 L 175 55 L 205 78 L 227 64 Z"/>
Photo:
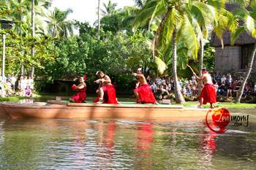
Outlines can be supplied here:
<path id="1" fill-rule="evenodd" d="M 192 70 L 192 68 L 189 66 L 189 68 Z M 210 103 L 211 109 L 215 107 L 216 103 L 216 89 L 214 87 L 214 83 L 212 82 L 211 75 L 206 71 L 205 68 L 202 69 L 202 76 L 198 77 L 195 72 L 192 70 L 193 74 L 197 78 L 197 80 L 203 81 L 203 88 L 199 96 L 199 106 L 200 108 L 203 107 L 203 104 Z"/>

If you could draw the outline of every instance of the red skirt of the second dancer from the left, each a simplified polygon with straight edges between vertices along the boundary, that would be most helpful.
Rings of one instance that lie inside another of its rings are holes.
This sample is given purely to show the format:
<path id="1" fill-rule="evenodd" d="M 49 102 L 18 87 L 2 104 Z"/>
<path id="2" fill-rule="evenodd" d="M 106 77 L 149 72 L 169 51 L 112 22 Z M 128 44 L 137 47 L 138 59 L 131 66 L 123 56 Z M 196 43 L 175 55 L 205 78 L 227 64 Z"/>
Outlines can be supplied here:
<path id="1" fill-rule="evenodd" d="M 116 89 L 113 85 L 106 85 L 102 87 L 104 91 L 103 104 L 117 104 Z M 99 101 L 99 96 L 94 99 L 94 103 Z"/>

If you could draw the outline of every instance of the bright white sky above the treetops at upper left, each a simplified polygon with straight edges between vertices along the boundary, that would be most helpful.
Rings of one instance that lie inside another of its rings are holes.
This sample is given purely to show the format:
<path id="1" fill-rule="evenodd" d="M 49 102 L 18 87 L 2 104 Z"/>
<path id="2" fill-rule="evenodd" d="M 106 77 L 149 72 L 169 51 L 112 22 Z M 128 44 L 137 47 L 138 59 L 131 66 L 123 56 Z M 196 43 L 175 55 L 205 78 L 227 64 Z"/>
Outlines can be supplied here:
<path id="1" fill-rule="evenodd" d="M 108 4 L 109 0 L 101 0 L 101 8 L 103 9 L 103 2 Z M 133 0 L 111 0 L 113 3 L 117 3 L 116 9 L 125 6 L 134 5 Z M 97 20 L 97 7 L 98 0 L 53 0 L 53 7 L 59 9 L 73 10 L 72 14 L 69 15 L 69 20 L 79 20 L 81 22 L 87 21 L 91 25 Z"/>

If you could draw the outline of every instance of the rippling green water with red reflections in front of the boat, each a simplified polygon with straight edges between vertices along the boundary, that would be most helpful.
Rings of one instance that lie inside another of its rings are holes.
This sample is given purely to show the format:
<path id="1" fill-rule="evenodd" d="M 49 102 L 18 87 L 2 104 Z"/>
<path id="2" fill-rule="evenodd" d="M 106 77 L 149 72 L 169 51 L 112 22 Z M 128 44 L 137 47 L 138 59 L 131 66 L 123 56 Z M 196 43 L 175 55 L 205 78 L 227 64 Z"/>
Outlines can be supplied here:
<path id="1" fill-rule="evenodd" d="M 256 169 L 256 123 L 0 120 L 0 169 Z"/>

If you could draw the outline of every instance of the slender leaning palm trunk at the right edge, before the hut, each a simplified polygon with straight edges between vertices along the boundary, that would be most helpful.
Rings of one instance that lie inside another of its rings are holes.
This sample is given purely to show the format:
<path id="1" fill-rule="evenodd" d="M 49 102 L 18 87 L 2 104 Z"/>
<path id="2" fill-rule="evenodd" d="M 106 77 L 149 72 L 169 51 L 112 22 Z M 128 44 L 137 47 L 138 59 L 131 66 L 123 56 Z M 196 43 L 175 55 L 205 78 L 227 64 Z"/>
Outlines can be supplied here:
<path id="1" fill-rule="evenodd" d="M 252 54 L 251 56 L 249 57 L 249 61 L 248 61 L 248 68 L 246 70 L 246 75 L 244 77 L 244 80 L 242 81 L 242 84 L 241 84 L 241 87 L 239 88 L 238 90 L 238 96 L 236 98 L 236 103 L 240 103 L 241 101 L 241 97 L 244 93 L 244 87 L 245 87 L 245 84 L 249 78 L 249 75 L 251 74 L 252 72 L 252 66 L 253 66 L 253 62 L 255 61 L 255 53 L 256 53 L 256 43 L 255 45 L 253 46 L 253 51 L 252 51 Z"/>

